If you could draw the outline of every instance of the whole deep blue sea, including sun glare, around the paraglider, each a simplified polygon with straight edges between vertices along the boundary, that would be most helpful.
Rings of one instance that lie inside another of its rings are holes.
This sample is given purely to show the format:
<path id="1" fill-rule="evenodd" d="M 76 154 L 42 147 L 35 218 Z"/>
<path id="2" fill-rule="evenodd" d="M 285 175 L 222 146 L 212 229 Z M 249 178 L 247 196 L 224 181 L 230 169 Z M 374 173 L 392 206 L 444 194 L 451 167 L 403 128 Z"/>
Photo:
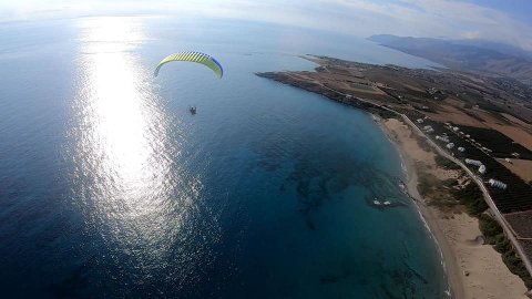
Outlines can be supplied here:
<path id="1" fill-rule="evenodd" d="M 254 75 L 311 70 L 305 53 L 427 61 L 227 20 L 82 18 L 0 37 L 4 297 L 446 297 L 371 117 Z M 224 79 L 194 64 L 153 79 L 181 50 L 213 54 Z"/>

